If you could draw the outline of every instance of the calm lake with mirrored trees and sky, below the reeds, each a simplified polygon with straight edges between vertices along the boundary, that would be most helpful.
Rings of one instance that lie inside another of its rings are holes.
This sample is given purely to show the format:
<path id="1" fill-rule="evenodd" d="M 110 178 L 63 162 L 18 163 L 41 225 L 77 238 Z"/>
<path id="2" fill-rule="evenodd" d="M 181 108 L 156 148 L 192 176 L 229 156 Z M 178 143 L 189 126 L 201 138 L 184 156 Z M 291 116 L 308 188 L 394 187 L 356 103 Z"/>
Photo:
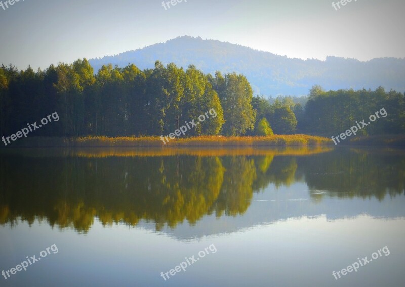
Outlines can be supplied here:
<path id="1" fill-rule="evenodd" d="M 0 286 L 404 286 L 404 191 L 403 150 L 7 149 Z"/>

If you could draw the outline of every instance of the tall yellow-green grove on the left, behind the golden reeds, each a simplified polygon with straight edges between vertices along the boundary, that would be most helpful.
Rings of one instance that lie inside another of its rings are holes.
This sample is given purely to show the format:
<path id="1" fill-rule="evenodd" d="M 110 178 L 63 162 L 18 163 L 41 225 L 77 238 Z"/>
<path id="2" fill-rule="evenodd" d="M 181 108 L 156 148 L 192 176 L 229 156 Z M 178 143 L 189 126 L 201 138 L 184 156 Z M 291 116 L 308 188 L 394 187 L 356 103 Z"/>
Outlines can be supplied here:
<path id="1" fill-rule="evenodd" d="M 171 133 L 184 122 L 214 109 L 210 118 L 187 135 L 242 135 L 253 129 L 256 114 L 252 89 L 235 73 L 205 75 L 159 61 L 154 69 L 103 66 L 96 75 L 86 59 L 71 65 L 0 68 L 2 134 L 14 133 L 29 122 L 57 111 L 61 121 L 36 135 L 129 136 Z"/>

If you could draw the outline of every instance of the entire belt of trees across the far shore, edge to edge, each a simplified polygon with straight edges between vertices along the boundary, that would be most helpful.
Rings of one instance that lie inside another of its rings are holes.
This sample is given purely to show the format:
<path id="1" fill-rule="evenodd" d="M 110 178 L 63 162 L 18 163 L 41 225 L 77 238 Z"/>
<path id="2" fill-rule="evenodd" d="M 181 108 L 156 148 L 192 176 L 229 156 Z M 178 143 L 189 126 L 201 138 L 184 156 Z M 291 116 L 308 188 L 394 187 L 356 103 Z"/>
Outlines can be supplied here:
<path id="1" fill-rule="evenodd" d="M 0 133 L 9 135 L 57 112 L 60 121 L 31 136 L 140 136 L 173 132 L 215 109 L 217 116 L 189 130 L 194 135 L 308 133 L 330 137 L 384 108 L 359 134 L 405 131 L 405 97 L 383 88 L 324 91 L 313 86 L 307 99 L 253 97 L 244 75 L 204 74 L 156 61 L 154 69 L 134 64 L 102 66 L 95 74 L 86 59 L 51 65 L 45 71 L 0 66 Z M 303 103 L 305 102 L 305 106 Z"/>

